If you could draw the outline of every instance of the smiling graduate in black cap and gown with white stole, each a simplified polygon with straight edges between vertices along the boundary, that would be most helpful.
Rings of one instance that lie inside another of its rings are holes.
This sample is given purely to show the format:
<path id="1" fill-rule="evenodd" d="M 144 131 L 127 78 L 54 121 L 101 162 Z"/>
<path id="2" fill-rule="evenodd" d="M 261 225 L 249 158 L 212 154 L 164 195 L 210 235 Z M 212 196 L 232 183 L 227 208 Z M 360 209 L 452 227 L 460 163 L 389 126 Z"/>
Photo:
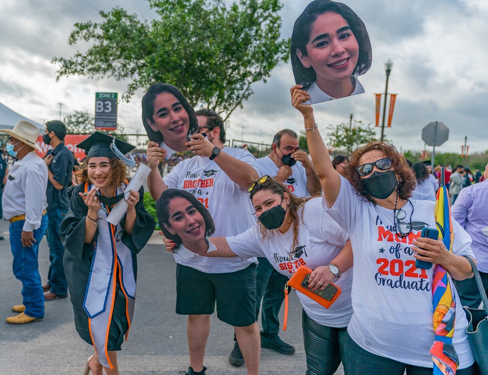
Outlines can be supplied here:
<path id="1" fill-rule="evenodd" d="M 84 374 L 118 374 L 116 351 L 127 339 L 134 313 L 136 255 L 153 234 L 156 222 L 144 209 L 144 192 L 124 192 L 127 165 L 124 154 L 135 146 L 101 132 L 76 147 L 87 151 L 70 210 L 61 223 L 66 247 L 64 267 L 75 326 L 80 337 L 95 347 Z M 127 212 L 117 225 L 107 216 L 120 200 Z"/>

